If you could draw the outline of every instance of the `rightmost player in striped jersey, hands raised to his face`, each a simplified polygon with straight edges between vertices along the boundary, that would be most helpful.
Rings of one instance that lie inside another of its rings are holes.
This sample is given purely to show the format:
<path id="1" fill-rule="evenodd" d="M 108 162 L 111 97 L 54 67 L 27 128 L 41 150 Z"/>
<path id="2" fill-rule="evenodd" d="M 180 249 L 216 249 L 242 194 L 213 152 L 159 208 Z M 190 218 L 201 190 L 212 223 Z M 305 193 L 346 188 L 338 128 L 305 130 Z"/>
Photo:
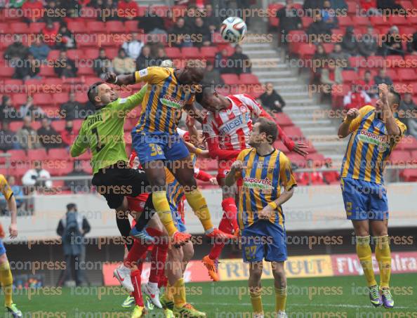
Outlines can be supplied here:
<path id="1" fill-rule="evenodd" d="M 376 307 L 392 308 L 388 201 L 383 172 L 406 126 L 394 117 L 401 100 L 399 94 L 381 84 L 379 95 L 376 107 L 366 105 L 360 110 L 351 109 L 340 124 L 339 137 L 350 135 L 340 175 L 345 210 L 355 229 L 357 256 L 369 287 L 369 298 Z M 380 289 L 373 274 L 369 230 L 376 240 Z"/>

